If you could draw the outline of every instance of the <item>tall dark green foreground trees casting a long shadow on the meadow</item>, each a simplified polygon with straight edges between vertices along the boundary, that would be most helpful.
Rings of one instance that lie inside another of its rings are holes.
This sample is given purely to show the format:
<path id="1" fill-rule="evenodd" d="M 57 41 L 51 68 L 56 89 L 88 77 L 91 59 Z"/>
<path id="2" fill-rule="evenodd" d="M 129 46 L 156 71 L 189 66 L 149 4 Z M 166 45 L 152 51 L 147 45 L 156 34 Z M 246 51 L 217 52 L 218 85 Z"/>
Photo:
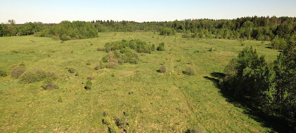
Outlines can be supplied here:
<path id="1" fill-rule="evenodd" d="M 296 36 L 273 63 L 267 63 L 256 49 L 244 48 L 226 66 L 221 84 L 241 101 L 268 115 L 296 120 Z"/>

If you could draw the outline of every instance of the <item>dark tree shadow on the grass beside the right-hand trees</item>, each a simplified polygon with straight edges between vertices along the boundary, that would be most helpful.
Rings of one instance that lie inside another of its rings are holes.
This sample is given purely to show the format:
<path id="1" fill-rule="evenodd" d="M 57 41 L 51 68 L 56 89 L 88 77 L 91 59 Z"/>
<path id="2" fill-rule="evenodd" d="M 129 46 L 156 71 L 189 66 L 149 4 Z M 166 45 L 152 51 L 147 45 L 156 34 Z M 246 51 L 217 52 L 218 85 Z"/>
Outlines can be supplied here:
<path id="1" fill-rule="evenodd" d="M 220 83 L 220 79 L 225 77 L 224 73 L 213 72 L 210 73 L 212 77 L 204 76 L 204 78 L 213 82 L 213 84 L 220 89 L 223 97 L 227 98 L 227 102 L 233 104 L 235 107 L 241 108 L 244 114 L 259 122 L 262 126 L 270 128 L 270 132 L 293 132 L 293 127 L 289 126 L 288 122 L 284 119 L 268 115 L 258 108 L 252 106 L 250 103 L 245 102 L 244 99 L 235 97 L 234 93 L 229 91 L 226 86 Z M 295 132 L 295 131 L 294 131 Z"/>

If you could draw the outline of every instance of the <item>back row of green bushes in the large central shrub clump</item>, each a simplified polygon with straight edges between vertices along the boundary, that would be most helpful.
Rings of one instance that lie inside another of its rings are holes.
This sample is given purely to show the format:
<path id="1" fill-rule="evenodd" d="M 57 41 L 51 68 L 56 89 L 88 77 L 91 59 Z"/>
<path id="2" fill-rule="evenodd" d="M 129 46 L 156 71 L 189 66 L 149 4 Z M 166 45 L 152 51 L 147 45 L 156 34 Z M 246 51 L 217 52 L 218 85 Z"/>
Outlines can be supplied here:
<path id="1" fill-rule="evenodd" d="M 155 49 L 153 45 L 149 45 L 147 42 L 141 41 L 140 39 L 132 39 L 130 41 L 123 39 L 122 41 L 107 42 L 104 47 L 106 52 L 129 48 L 138 53 L 143 52 L 149 54 Z"/>

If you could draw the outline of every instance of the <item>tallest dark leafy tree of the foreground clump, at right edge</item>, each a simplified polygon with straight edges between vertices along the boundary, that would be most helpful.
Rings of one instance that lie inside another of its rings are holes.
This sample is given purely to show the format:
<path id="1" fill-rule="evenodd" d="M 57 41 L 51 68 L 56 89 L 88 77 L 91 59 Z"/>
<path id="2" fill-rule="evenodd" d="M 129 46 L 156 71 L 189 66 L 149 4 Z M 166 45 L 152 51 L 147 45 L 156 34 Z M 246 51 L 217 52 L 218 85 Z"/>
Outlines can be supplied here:
<path id="1" fill-rule="evenodd" d="M 275 110 L 296 121 L 296 36 L 274 61 L 276 100 Z M 294 124 L 295 126 L 295 124 Z"/>

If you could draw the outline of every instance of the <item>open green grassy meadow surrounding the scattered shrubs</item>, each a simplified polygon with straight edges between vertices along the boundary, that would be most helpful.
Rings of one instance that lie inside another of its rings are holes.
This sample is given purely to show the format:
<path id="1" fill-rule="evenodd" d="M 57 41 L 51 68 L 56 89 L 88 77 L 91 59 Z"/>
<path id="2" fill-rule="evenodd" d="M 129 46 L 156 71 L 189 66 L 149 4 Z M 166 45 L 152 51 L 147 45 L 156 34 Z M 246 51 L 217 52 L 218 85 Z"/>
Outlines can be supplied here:
<path id="1" fill-rule="evenodd" d="M 139 64 L 94 70 L 106 55 L 96 49 L 122 39 L 141 39 L 155 46 L 163 41 L 165 51 L 140 54 Z M 103 112 L 112 119 L 111 125 L 115 117 L 125 118 L 126 132 L 185 132 L 195 126 L 207 132 L 273 132 L 229 103 L 209 80 L 215 78 L 211 73 L 223 73 L 244 47 L 257 49 L 268 62 L 275 60 L 279 52 L 266 48 L 269 42 L 247 40 L 241 46 L 237 40 L 164 37 L 152 32 L 99 33 L 98 38 L 60 42 L 34 36 L 0 37 L 0 67 L 7 72 L 12 64 L 23 62 L 28 69 L 54 70 L 59 75 L 55 90 L 42 89 L 41 82 L 20 84 L 10 75 L 1 77 L 0 132 L 108 132 Z M 157 72 L 162 64 L 168 68 L 166 73 Z M 196 69 L 194 76 L 182 73 L 187 66 Z M 79 76 L 67 72 L 67 67 L 76 68 Z M 93 88 L 86 90 L 82 83 L 90 74 Z"/>

